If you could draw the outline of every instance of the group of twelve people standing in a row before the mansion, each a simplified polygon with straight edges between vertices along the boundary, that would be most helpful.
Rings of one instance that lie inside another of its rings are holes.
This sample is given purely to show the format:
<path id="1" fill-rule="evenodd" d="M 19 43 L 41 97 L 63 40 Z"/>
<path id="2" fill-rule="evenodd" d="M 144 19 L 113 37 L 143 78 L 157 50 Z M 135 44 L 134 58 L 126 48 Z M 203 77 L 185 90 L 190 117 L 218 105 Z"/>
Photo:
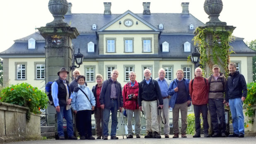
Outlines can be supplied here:
<path id="1" fill-rule="evenodd" d="M 247 95 L 244 76 L 236 71 L 236 65 L 229 63 L 229 77 L 226 79 L 220 73 L 220 67 L 213 66 L 213 74 L 204 78 L 202 69 L 196 68 L 195 78 L 191 81 L 184 78 L 183 70 L 176 71 L 176 79 L 169 82 L 165 78 L 165 70 L 161 68 L 159 77 L 152 79 L 151 71 L 145 69 L 142 82 L 136 81 L 135 72 L 129 73 L 130 82 L 122 86 L 117 81 L 118 70 L 111 72 L 111 77 L 103 82 L 101 74 L 96 75 L 97 84 L 92 90 L 85 82 L 85 76 L 79 70 L 73 71 L 75 78 L 70 84 L 66 80 L 68 71 L 63 67 L 58 72 L 59 79 L 51 86 L 53 103 L 56 107 L 58 135 L 64 138 L 63 116 L 67 120 L 68 139 L 74 137 L 72 128 L 72 112 L 77 115 L 77 130 L 80 139 L 95 139 L 92 137 L 91 114 L 94 112 L 97 139 L 108 139 L 109 118 L 111 112 L 111 139 L 116 137 L 118 110 L 123 108 L 127 115 L 128 137 L 140 138 L 141 112 L 145 115 L 147 135 L 145 138 L 161 138 L 162 124 L 165 138 L 169 138 L 169 108 L 173 113 L 173 138 L 179 137 L 179 111 L 181 112 L 181 137 L 186 137 L 188 106 L 193 104 L 195 113 L 196 134 L 200 137 L 200 113 L 203 117 L 204 137 L 208 134 L 207 113 L 210 111 L 213 127 L 212 137 L 226 137 L 224 104 L 230 107 L 234 133 L 229 137 L 244 137 L 243 101 Z M 135 121 L 133 133 L 132 120 Z M 220 121 L 220 124 L 218 123 Z"/>

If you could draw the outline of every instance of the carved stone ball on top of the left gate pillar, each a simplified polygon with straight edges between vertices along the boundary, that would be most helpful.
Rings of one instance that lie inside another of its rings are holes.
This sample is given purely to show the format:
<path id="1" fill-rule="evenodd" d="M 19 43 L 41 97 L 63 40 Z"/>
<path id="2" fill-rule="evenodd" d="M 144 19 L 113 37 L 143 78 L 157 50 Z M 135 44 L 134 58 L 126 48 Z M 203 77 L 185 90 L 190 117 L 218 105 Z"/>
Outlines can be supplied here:
<path id="1" fill-rule="evenodd" d="M 67 0 L 49 0 L 48 8 L 53 15 L 65 15 L 68 12 Z"/>

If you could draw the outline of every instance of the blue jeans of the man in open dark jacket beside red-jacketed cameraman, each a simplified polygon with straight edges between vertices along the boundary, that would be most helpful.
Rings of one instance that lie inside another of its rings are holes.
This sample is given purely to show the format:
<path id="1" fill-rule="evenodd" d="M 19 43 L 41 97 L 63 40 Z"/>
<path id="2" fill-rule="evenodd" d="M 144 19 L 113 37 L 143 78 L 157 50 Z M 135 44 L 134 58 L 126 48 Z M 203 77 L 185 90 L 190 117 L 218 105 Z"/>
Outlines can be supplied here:
<path id="1" fill-rule="evenodd" d="M 112 125 L 111 125 L 111 136 L 116 135 L 116 126 L 118 124 L 117 122 L 117 100 L 111 100 L 110 101 L 111 108 L 104 108 L 103 110 L 103 135 L 108 136 L 109 135 L 109 116 L 110 116 L 110 110 L 112 113 Z"/>

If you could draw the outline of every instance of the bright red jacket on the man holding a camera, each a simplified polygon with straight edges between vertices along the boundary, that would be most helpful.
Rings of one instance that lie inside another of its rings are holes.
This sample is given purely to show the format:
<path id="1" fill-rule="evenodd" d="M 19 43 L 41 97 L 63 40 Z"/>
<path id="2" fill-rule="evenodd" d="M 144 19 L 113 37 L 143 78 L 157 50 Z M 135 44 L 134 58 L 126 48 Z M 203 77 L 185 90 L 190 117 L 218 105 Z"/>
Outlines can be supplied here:
<path id="1" fill-rule="evenodd" d="M 129 100 L 128 95 L 135 94 L 135 98 Z M 135 81 L 134 86 L 131 86 L 130 82 L 123 86 L 123 108 L 129 110 L 135 110 L 139 108 L 138 105 L 138 95 L 139 95 L 139 84 Z"/>

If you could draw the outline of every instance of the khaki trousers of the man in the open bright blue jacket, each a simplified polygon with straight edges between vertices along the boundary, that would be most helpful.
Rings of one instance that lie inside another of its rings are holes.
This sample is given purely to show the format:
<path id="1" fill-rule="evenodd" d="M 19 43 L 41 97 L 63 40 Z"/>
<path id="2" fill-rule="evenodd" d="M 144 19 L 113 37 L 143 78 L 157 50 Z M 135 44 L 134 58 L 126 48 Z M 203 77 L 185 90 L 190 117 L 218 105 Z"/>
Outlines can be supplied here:
<path id="1" fill-rule="evenodd" d="M 187 102 L 181 104 L 175 104 L 172 109 L 173 115 L 173 129 L 174 134 L 179 134 L 179 110 L 181 110 L 181 134 L 186 134 L 187 130 L 187 115 L 188 115 L 188 104 Z"/>

